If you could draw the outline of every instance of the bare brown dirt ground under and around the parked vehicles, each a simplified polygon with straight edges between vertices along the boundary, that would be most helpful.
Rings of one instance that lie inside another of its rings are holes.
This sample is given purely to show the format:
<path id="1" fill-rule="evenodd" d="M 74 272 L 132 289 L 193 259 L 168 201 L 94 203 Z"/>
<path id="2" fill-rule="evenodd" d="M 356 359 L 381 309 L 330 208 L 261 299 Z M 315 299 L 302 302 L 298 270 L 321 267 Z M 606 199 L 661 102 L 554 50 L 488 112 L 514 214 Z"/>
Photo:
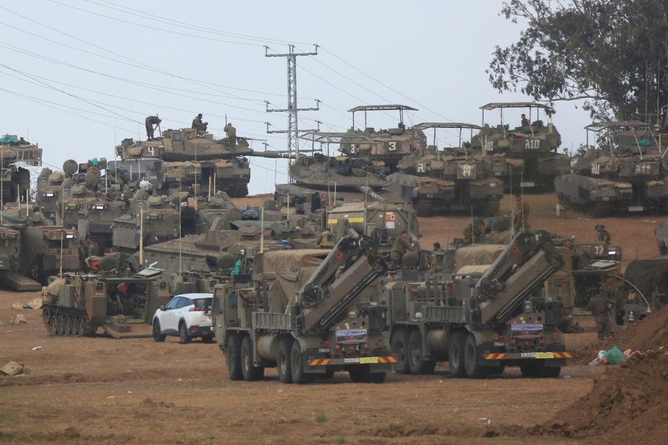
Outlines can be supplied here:
<path id="1" fill-rule="evenodd" d="M 527 202 L 532 227 L 591 241 L 602 223 L 626 260 L 655 255 L 654 216 L 585 220 L 562 212 L 557 219 L 553 195 Z M 463 216 L 420 218 L 422 242 L 448 241 L 466 223 Z M 215 344 L 49 337 L 40 310 L 11 308 L 37 295 L 0 292 L 0 366 L 26 366 L 24 375 L 0 377 L 0 444 L 596 443 L 523 431 L 589 393 L 601 366 L 567 366 L 555 380 L 523 379 L 515 369 L 455 380 L 439 366 L 434 375 L 391 373 L 383 385 L 353 384 L 345 373 L 283 385 L 275 370 L 262 382 L 231 382 Z M 9 323 L 18 312 L 28 323 Z M 567 334 L 567 346 L 585 348 L 595 337 Z M 499 426 L 517 428 L 505 435 Z"/>

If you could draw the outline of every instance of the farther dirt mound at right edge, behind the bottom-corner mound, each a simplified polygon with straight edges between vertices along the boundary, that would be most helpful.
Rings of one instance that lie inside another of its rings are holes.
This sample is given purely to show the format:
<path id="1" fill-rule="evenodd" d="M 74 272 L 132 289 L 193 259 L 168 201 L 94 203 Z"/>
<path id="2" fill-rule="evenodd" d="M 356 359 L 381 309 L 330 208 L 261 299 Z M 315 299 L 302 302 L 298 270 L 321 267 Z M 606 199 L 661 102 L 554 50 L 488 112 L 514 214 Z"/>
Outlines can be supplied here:
<path id="1" fill-rule="evenodd" d="M 612 337 L 588 346 L 575 354 L 575 362 L 587 364 L 596 358 L 599 350 L 617 346 L 621 350 L 661 350 L 668 347 L 668 306 L 649 314 L 647 318 L 625 327 Z"/>

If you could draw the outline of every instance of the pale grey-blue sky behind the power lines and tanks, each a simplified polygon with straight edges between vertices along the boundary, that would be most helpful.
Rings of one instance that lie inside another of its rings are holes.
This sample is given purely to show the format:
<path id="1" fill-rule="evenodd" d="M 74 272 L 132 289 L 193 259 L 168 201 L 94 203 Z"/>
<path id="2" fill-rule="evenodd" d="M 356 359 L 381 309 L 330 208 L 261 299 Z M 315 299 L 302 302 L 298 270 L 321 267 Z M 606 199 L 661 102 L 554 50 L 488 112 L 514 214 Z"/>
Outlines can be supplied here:
<path id="1" fill-rule="evenodd" d="M 301 129 L 345 131 L 349 108 L 405 104 L 407 124 L 481 123 L 479 106 L 529 101 L 499 94 L 485 70 L 495 45 L 516 40 L 520 25 L 499 15 L 502 2 L 4 0 L 0 36 L 0 133 L 24 136 L 44 163 L 113 159 L 124 138 L 145 138 L 144 119 L 162 129 L 190 127 L 197 113 L 214 136 L 225 117 L 253 148 L 285 150 L 288 51 L 297 59 Z M 265 49 L 265 46 L 269 49 Z M 584 143 L 588 113 L 556 104 L 562 147 Z M 504 122 L 519 123 L 519 113 Z M 369 113 L 369 126 L 395 127 L 397 115 Z M 497 113 L 486 122 L 498 123 Z M 516 121 L 516 122 L 514 122 Z M 439 145 L 456 143 L 442 132 Z M 310 145 L 310 143 L 305 143 Z M 285 161 L 250 159 L 251 194 L 287 182 Z"/>

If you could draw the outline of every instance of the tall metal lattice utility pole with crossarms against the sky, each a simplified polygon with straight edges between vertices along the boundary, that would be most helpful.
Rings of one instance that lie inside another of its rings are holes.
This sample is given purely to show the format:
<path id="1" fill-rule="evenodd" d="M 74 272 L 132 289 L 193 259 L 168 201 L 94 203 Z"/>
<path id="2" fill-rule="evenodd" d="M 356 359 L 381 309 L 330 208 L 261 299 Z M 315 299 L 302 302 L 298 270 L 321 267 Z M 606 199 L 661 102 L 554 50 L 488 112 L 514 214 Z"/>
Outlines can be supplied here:
<path id="1" fill-rule="evenodd" d="M 269 54 L 269 47 L 264 47 L 264 56 L 266 57 L 285 57 L 287 59 L 287 108 L 269 108 L 269 102 L 265 101 L 267 104 L 267 112 L 269 113 L 287 113 L 287 129 L 285 130 L 270 130 L 269 122 L 267 124 L 267 133 L 287 133 L 287 152 L 290 158 L 292 158 L 292 153 L 294 152 L 295 156 L 299 154 L 299 141 L 297 137 L 299 136 L 299 131 L 319 131 L 320 129 L 308 129 L 308 130 L 299 130 L 299 125 L 297 121 L 297 112 L 298 111 L 319 111 L 320 110 L 320 101 L 315 99 L 315 107 L 312 108 L 299 108 L 297 106 L 297 56 L 317 56 L 318 54 L 318 45 L 315 44 L 314 51 L 308 53 L 296 53 L 294 52 L 294 45 L 289 45 L 289 52 L 284 54 Z M 319 126 L 318 126 L 319 127 Z"/>

